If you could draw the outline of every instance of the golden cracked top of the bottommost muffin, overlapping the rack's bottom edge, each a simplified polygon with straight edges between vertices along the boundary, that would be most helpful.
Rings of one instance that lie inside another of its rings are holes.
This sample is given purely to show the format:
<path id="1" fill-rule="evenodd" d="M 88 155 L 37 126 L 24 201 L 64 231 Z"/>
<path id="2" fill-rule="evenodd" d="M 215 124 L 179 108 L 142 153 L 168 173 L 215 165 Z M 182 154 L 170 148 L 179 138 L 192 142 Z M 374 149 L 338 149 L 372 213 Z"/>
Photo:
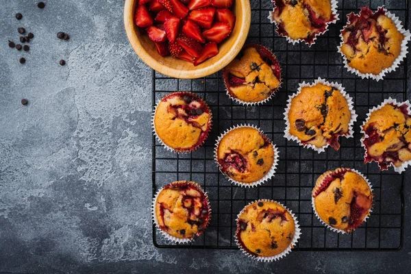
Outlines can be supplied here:
<path id="1" fill-rule="evenodd" d="M 295 222 L 290 212 L 273 201 L 256 201 L 238 216 L 238 244 L 253 256 L 271 257 L 292 243 Z"/>

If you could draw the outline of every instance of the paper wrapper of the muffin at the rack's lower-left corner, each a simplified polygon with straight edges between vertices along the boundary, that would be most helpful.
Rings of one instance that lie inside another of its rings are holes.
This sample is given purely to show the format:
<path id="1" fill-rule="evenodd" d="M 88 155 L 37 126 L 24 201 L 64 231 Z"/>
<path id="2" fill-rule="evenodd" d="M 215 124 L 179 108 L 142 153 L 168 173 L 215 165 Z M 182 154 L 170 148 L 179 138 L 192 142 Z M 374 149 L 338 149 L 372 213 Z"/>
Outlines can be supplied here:
<path id="1" fill-rule="evenodd" d="M 162 236 L 163 236 L 164 238 L 166 238 L 166 240 L 169 240 L 169 242 L 172 242 L 172 243 L 184 244 L 184 243 L 192 242 L 192 241 L 195 239 L 196 236 L 199 237 L 199 236 L 201 236 L 201 234 L 203 234 L 203 233 L 206 231 L 206 229 L 207 229 L 207 227 L 208 227 L 208 224 L 210 223 L 210 219 L 211 219 L 211 206 L 210 206 L 210 201 L 209 201 L 209 199 L 208 199 L 207 192 L 205 192 L 205 191 L 203 190 L 203 188 L 201 188 L 201 186 L 200 186 L 199 184 L 197 184 L 197 183 L 195 183 L 195 182 L 185 181 L 186 184 L 190 184 L 191 186 L 195 186 L 195 188 L 197 188 L 197 190 L 199 190 L 201 193 L 203 193 L 204 196 L 206 197 L 206 202 L 207 202 L 207 206 L 208 206 L 208 219 L 207 219 L 207 221 L 203 224 L 204 229 L 203 229 L 203 231 L 200 232 L 199 234 L 192 236 L 192 238 L 177 238 L 177 237 L 175 237 L 175 236 L 172 236 L 172 235 L 168 234 L 168 233 L 165 232 L 164 230 L 162 230 L 162 229 L 160 228 L 159 223 L 158 223 L 157 215 L 155 214 L 155 203 L 157 202 L 158 195 L 160 195 L 160 192 L 161 192 L 162 190 L 164 190 L 164 188 L 166 188 L 167 186 L 173 185 L 173 184 L 175 184 L 175 183 L 184 184 L 184 183 L 181 183 L 181 182 L 182 182 L 182 181 L 177 181 L 177 182 L 173 182 L 173 183 L 171 183 L 171 184 L 167 184 L 166 186 L 163 186 L 162 188 L 160 188 L 160 189 L 155 193 L 155 195 L 154 195 L 154 197 L 153 197 L 153 201 L 151 202 L 151 218 L 153 219 L 153 223 L 155 224 L 155 227 L 157 228 L 158 232 L 160 232 L 160 234 L 162 234 Z"/>

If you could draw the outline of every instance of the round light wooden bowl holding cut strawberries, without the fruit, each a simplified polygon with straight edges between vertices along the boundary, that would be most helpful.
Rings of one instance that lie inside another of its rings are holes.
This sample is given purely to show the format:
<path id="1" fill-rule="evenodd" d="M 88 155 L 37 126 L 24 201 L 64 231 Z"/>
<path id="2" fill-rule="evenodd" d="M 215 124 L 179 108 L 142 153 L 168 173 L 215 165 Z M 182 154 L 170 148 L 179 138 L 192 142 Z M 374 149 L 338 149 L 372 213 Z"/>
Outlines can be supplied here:
<path id="1" fill-rule="evenodd" d="M 134 51 L 152 69 L 175 78 L 194 79 L 204 77 L 223 69 L 231 62 L 245 43 L 249 33 L 251 8 L 249 0 L 234 1 L 236 25 L 227 39 L 219 44 L 219 54 L 194 66 L 189 62 L 173 58 L 162 57 L 155 49 L 154 43 L 147 34 L 142 34 L 134 24 L 134 12 L 138 0 L 125 0 L 124 25 L 127 37 Z"/>

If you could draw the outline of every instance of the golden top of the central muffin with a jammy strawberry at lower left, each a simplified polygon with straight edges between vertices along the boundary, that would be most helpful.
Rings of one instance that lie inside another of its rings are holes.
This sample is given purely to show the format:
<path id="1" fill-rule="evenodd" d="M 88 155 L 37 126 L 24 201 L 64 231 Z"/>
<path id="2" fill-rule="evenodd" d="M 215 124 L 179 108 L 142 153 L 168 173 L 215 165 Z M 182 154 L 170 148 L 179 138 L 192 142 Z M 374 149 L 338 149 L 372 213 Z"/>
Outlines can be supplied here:
<path id="1" fill-rule="evenodd" d="M 274 151 L 269 138 L 253 127 L 230 130 L 217 145 L 220 170 L 242 183 L 262 179 L 273 166 Z"/>

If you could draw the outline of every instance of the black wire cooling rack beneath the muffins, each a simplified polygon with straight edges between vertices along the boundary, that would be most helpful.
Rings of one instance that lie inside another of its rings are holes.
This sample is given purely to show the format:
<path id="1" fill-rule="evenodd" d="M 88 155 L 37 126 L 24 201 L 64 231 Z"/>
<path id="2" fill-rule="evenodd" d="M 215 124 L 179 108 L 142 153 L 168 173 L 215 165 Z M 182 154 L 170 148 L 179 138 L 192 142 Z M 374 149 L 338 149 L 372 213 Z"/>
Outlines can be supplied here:
<path id="1" fill-rule="evenodd" d="M 237 0 L 240 1 L 240 0 Z M 198 182 L 208 192 L 212 218 L 205 234 L 188 245 L 167 242 L 153 226 L 153 243 L 163 248 L 237 249 L 234 240 L 236 216 L 250 201 L 274 199 L 297 214 L 301 238 L 297 251 L 388 251 L 403 245 L 404 175 L 393 171 L 379 172 L 377 164 L 364 164 L 364 149 L 360 145 L 360 125 L 370 108 L 393 97 L 406 100 L 407 60 L 389 73 L 383 81 L 361 79 L 344 68 L 337 46 L 340 29 L 346 24 L 349 12 L 358 12 L 369 5 L 375 10 L 386 5 L 399 16 L 403 25 L 408 22 L 408 1 L 339 1 L 339 20 L 329 31 L 319 36 L 316 44 L 292 45 L 275 34 L 275 25 L 267 16 L 273 9 L 269 0 L 251 0 L 251 28 L 247 42 L 256 42 L 273 50 L 282 66 L 284 83 L 276 97 L 260 106 L 242 106 L 225 94 L 221 72 L 201 79 L 173 79 L 153 71 L 153 108 L 169 92 L 192 91 L 206 99 L 213 114 L 212 132 L 205 145 L 190 154 L 166 151 L 153 137 L 153 195 L 165 184 L 177 180 Z M 358 121 L 355 138 L 340 138 L 341 147 L 331 147 L 324 153 L 305 149 L 284 138 L 284 108 L 288 95 L 297 91 L 298 84 L 313 82 L 317 77 L 343 84 L 353 97 Z M 260 127 L 279 149 L 279 166 L 275 177 L 262 186 L 241 188 L 230 184 L 214 163 L 213 151 L 217 136 L 238 124 Z M 351 234 L 330 231 L 312 212 L 311 190 L 316 179 L 329 169 L 345 166 L 357 169 L 373 184 L 373 212 L 366 223 Z"/>

